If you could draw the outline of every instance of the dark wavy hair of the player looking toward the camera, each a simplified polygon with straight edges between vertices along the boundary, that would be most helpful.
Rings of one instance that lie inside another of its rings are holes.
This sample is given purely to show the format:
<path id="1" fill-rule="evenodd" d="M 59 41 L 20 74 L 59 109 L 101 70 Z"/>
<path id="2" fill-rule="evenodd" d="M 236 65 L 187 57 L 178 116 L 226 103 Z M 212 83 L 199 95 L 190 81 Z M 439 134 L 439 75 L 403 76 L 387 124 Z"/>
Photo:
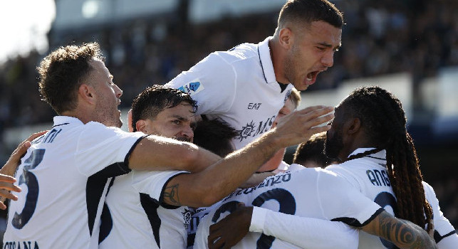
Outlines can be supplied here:
<path id="1" fill-rule="evenodd" d="M 165 110 L 173 108 L 181 102 L 187 102 L 192 106 L 192 112 L 197 109 L 196 102 L 189 94 L 163 85 L 152 85 L 140 92 L 132 102 L 132 127 L 137 131 L 135 124 L 138 120 L 154 120 L 155 117 Z"/>

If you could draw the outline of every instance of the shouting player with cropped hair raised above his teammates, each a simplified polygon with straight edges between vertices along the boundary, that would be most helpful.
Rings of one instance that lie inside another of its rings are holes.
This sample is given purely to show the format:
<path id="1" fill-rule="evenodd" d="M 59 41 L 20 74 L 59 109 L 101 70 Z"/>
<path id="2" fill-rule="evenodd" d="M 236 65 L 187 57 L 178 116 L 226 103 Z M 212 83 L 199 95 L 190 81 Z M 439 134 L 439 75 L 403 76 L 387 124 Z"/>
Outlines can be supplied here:
<path id="1" fill-rule="evenodd" d="M 211 53 L 168 86 L 197 101 L 197 115 L 239 132 L 236 149 L 269 131 L 291 89 L 306 90 L 333 66 L 343 14 L 328 0 L 290 0 L 274 36 Z"/>

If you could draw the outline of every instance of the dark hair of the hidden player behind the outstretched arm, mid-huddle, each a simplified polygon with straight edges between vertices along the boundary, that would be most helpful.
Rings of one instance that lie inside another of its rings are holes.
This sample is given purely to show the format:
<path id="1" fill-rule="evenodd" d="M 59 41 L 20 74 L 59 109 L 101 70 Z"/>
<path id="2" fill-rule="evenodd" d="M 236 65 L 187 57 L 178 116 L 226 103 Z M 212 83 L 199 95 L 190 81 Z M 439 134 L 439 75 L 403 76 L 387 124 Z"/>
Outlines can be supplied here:
<path id="1" fill-rule="evenodd" d="M 200 120 L 194 130 L 194 144 L 226 157 L 234 151 L 231 141 L 237 134 L 234 128 L 220 120 Z"/>

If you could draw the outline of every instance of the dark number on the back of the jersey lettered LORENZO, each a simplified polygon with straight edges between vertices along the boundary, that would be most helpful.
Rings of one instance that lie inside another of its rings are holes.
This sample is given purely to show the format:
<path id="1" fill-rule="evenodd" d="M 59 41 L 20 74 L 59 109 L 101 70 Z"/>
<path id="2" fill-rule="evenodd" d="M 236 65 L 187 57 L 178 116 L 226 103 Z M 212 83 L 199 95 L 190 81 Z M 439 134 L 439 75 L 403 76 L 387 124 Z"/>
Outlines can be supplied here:
<path id="1" fill-rule="evenodd" d="M 251 203 L 253 206 L 262 206 L 264 202 L 269 200 L 276 200 L 280 204 L 279 212 L 286 214 L 296 213 L 296 200 L 294 196 L 287 191 L 286 189 L 271 189 L 265 191 L 256 197 Z M 216 223 L 219 219 L 221 213 L 229 211 L 232 213 L 236 209 L 236 205 L 239 201 L 229 201 L 224 203 L 218 210 L 214 213 L 212 221 Z M 268 249 L 271 248 L 272 243 L 274 243 L 275 237 L 261 234 L 261 237 L 256 241 L 256 249 Z"/>

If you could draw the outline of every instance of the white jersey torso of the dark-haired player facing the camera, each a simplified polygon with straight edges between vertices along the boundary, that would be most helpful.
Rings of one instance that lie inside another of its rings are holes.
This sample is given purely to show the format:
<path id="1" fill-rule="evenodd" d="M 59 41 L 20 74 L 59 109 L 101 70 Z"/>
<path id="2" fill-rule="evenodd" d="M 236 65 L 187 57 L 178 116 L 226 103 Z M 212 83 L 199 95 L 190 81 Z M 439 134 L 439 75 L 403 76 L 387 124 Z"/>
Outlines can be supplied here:
<path id="1" fill-rule="evenodd" d="M 117 176 L 105 203 L 99 248 L 186 248 L 189 208 L 163 203 L 167 182 L 186 171 Z"/>

